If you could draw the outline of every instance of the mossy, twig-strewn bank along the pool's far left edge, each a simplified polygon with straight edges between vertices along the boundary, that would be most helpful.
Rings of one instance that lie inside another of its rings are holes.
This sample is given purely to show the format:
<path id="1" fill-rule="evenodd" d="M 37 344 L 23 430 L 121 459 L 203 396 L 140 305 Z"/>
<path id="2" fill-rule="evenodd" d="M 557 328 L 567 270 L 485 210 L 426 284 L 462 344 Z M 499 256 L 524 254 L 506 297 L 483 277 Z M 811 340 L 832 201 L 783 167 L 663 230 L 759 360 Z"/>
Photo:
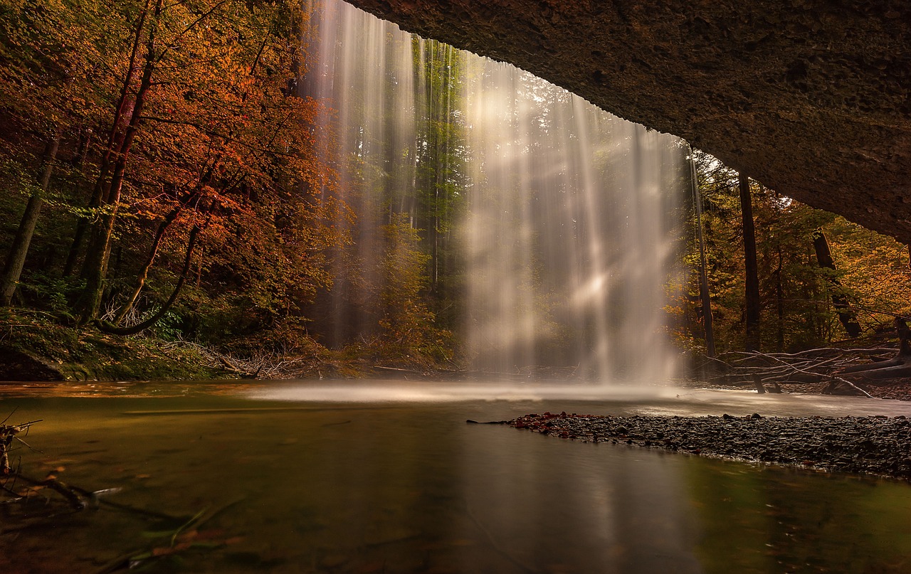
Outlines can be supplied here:
<path id="1" fill-rule="evenodd" d="M 382 375 L 379 365 L 432 373 L 452 364 L 433 349 L 378 339 L 329 350 L 304 331 L 281 326 L 222 345 L 220 352 L 239 364 L 262 355 L 273 368 L 226 371 L 210 366 L 212 357 L 196 345 L 101 333 L 94 327 L 62 325 L 50 313 L 0 309 L 0 380 L 8 381 L 207 380 L 253 371 L 273 378 L 347 379 Z M 274 367 L 279 364 L 288 366 Z"/>

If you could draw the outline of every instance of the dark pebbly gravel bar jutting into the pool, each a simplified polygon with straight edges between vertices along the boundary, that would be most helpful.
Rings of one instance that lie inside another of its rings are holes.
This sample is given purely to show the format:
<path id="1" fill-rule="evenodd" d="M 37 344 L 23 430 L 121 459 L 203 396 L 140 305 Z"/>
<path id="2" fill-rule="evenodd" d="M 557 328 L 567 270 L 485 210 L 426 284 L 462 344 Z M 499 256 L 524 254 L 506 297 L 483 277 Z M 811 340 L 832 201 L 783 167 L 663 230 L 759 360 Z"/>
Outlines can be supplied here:
<path id="1" fill-rule="evenodd" d="M 507 425 L 587 442 L 911 479 L 905 416 L 524 415 Z"/>

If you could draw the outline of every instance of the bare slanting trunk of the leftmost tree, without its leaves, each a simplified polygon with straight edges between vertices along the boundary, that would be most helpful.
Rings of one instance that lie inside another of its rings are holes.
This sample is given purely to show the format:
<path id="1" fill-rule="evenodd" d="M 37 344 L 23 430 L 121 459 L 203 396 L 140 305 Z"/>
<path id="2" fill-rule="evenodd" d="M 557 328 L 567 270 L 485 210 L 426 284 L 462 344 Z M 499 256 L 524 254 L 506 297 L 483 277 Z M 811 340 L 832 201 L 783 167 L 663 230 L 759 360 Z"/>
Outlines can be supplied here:
<path id="1" fill-rule="evenodd" d="M 62 133 L 63 128 L 56 128 L 54 135 L 51 136 L 45 146 L 45 154 L 42 159 L 41 185 L 28 198 L 26 211 L 22 215 L 19 229 L 16 230 L 15 238 L 13 238 L 13 245 L 10 246 L 9 253 L 6 256 L 3 277 L 0 277 L 0 306 L 8 307 L 13 302 L 15 289 L 19 284 L 19 278 L 22 276 L 22 268 L 26 264 L 28 247 L 32 242 L 32 237 L 35 236 L 38 215 L 40 215 L 41 206 L 45 202 L 44 194 L 50 186 L 56 152 L 60 148 Z"/>

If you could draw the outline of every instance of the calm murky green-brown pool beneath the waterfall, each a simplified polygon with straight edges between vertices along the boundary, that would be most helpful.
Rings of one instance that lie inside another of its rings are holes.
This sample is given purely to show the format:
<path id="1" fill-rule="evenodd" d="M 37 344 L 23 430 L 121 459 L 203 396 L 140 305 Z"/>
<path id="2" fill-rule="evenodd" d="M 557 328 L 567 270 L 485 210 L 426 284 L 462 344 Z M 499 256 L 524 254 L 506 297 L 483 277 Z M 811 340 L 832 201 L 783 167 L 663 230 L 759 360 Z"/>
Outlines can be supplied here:
<path id="1" fill-rule="evenodd" d="M 911 571 L 906 483 L 466 424 L 546 410 L 911 415 L 669 387 L 0 385 L 8 423 L 43 419 L 24 473 L 173 517 L 103 504 L 14 529 L 0 571 Z"/>

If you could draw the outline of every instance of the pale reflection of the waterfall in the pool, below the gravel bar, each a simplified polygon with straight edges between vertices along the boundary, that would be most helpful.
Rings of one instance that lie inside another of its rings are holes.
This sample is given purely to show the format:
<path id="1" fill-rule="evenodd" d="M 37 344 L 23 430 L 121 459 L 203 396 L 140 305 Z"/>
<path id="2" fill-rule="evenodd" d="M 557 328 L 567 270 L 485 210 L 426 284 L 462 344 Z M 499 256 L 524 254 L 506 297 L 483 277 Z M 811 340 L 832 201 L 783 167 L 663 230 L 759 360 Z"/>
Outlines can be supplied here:
<path id="1" fill-rule="evenodd" d="M 516 448 L 514 438 L 467 443 L 485 446 L 466 448 L 463 484 L 470 516 L 521 569 L 701 571 L 679 459 L 611 446 L 567 449 L 540 437 Z M 484 460 L 491 448 L 496 456 Z"/>

